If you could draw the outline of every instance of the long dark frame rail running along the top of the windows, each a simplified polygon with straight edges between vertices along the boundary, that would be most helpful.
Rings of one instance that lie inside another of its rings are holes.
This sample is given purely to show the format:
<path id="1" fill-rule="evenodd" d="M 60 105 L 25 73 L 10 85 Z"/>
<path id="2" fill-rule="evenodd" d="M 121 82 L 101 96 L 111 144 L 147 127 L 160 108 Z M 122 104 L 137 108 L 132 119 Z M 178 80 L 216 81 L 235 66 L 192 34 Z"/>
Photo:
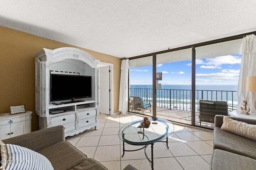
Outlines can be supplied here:
<path id="1" fill-rule="evenodd" d="M 204 45 L 211 45 L 211 44 L 216 44 L 216 43 L 222 43 L 222 42 L 225 42 L 225 41 L 232 41 L 232 40 L 236 40 L 236 39 L 241 39 L 241 38 L 245 37 L 246 35 L 250 35 L 250 34 L 256 35 L 256 31 L 243 33 L 243 34 L 239 34 L 239 35 L 233 35 L 233 36 L 230 36 L 230 37 L 224 37 L 224 38 L 220 38 L 220 39 L 214 39 L 214 40 L 205 41 L 205 42 L 202 42 L 202 43 L 186 45 L 186 46 L 183 46 L 183 47 L 177 47 L 177 48 L 173 48 L 173 49 L 168 48 L 168 50 L 157 51 L 157 52 L 154 52 L 154 53 L 148 53 L 148 54 L 144 54 L 144 55 L 138 55 L 138 56 L 130 57 L 128 59 L 129 60 L 139 59 L 139 58 L 150 57 L 150 56 L 158 55 L 158 54 L 162 54 L 162 53 L 168 53 L 168 52 L 172 52 L 172 51 L 188 49 L 188 48 L 192 48 L 192 47 L 201 47 L 201 46 L 204 46 Z"/>

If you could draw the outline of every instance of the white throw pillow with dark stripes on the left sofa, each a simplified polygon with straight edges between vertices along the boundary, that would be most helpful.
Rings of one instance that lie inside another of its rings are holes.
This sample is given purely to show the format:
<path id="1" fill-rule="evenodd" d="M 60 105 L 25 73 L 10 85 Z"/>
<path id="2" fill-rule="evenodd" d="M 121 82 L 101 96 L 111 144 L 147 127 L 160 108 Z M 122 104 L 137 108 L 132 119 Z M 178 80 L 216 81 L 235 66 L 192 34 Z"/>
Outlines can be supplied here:
<path id="1" fill-rule="evenodd" d="M 2 148 L 6 148 L 3 161 Z M 42 154 L 18 145 L 1 144 L 0 170 L 54 170 L 51 162 Z"/>

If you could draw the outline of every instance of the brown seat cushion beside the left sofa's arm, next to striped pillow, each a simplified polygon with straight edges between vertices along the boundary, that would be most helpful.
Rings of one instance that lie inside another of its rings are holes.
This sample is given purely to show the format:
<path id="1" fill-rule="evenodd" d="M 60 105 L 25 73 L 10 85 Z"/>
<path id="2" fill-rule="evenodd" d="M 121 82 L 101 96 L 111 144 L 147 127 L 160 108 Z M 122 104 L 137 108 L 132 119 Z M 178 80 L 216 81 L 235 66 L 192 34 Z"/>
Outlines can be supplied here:
<path id="1" fill-rule="evenodd" d="M 87 158 L 67 141 L 61 141 L 38 152 L 50 160 L 54 170 L 70 170 Z"/>

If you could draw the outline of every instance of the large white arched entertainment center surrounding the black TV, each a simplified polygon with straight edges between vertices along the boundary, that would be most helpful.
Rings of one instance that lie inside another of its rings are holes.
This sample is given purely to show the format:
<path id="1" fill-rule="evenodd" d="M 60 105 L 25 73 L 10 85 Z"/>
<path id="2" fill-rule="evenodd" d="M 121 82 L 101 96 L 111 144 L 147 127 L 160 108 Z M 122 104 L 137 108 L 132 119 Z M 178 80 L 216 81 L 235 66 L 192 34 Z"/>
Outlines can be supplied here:
<path id="1" fill-rule="evenodd" d="M 41 49 L 36 54 L 36 113 L 40 129 L 63 125 L 65 137 L 92 127 L 98 129 L 98 62 L 89 53 L 72 47 Z M 72 102 L 51 101 L 51 74 L 90 76 L 91 96 L 72 99 Z M 56 109 L 64 112 L 52 114 Z"/>

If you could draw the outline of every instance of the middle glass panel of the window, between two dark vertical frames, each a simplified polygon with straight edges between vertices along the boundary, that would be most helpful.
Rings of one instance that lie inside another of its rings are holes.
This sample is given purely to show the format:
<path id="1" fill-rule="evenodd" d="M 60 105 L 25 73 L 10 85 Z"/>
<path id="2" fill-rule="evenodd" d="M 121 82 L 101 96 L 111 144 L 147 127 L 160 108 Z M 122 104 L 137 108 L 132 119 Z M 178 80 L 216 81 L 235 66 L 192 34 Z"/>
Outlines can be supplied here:
<path id="1" fill-rule="evenodd" d="M 156 55 L 156 115 L 191 125 L 191 48 Z"/>

